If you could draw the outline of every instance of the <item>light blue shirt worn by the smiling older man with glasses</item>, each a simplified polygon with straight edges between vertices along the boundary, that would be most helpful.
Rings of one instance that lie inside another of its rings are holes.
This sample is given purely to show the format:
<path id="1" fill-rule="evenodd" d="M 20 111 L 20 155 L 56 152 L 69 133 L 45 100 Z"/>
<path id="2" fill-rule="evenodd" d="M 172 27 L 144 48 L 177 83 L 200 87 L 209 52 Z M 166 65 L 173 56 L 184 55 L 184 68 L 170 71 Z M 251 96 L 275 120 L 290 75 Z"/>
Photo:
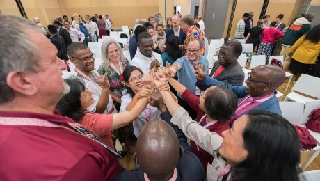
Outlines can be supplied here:
<path id="1" fill-rule="evenodd" d="M 186 56 L 177 59 L 175 63 L 178 63 L 181 66 L 181 69 L 178 72 L 178 81 L 186 88 L 188 88 L 193 94 L 195 94 L 195 83 L 198 81 L 195 78 L 195 72 L 193 72 L 193 62 L 189 61 Z M 200 56 L 200 61 L 196 64 L 199 65 L 200 63 L 205 65 L 205 72 L 209 72 L 209 62 L 205 56 Z M 191 68 L 192 66 L 192 68 Z M 179 93 L 177 94 L 179 97 Z"/>

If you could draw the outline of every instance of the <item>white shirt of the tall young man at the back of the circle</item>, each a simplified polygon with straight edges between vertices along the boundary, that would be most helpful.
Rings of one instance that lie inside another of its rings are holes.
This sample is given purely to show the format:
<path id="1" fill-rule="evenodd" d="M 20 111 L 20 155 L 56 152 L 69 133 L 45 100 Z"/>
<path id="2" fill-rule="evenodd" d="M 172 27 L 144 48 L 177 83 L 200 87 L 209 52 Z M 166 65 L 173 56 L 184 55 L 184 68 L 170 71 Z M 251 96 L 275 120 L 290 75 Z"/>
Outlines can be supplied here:
<path id="1" fill-rule="evenodd" d="M 139 47 L 137 47 L 136 55 L 132 59 L 130 65 L 136 66 L 137 68 L 139 68 L 143 72 L 143 74 L 148 74 L 150 72 L 150 65 L 151 65 L 152 61 L 154 61 L 156 59 L 161 64 L 160 68 L 162 68 L 163 61 L 162 61 L 160 54 L 153 52 L 151 58 L 149 58 L 149 57 L 141 54 Z"/>

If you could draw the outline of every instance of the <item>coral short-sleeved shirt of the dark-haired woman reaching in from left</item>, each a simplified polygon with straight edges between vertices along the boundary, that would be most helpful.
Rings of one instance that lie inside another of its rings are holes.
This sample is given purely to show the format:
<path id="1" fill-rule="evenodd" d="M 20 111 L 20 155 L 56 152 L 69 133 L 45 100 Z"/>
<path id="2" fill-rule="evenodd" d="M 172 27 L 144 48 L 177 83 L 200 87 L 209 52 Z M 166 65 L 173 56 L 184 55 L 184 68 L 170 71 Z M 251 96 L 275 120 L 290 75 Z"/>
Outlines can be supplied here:
<path id="1" fill-rule="evenodd" d="M 86 113 L 78 123 L 88 129 L 95 132 L 100 139 L 114 149 L 114 145 L 111 138 L 113 114 L 99 114 L 99 113 Z"/>

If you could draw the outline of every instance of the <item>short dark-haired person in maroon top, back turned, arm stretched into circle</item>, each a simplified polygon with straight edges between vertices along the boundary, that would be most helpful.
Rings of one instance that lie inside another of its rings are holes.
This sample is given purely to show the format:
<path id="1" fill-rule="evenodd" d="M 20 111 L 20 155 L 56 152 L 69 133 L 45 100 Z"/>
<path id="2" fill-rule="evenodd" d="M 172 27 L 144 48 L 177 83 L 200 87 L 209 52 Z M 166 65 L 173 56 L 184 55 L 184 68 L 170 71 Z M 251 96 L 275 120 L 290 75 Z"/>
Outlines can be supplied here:
<path id="1" fill-rule="evenodd" d="M 219 136 L 229 127 L 234 112 L 238 107 L 237 96 L 225 86 L 211 86 L 202 91 L 200 97 L 195 96 L 188 88 L 173 78 L 169 83 L 179 93 L 189 106 L 197 111 L 196 122 L 210 132 L 216 132 Z M 191 141 L 192 152 L 197 155 L 203 168 L 207 171 L 208 163 L 211 164 L 214 157 L 205 150 L 199 148 L 195 141 Z"/>

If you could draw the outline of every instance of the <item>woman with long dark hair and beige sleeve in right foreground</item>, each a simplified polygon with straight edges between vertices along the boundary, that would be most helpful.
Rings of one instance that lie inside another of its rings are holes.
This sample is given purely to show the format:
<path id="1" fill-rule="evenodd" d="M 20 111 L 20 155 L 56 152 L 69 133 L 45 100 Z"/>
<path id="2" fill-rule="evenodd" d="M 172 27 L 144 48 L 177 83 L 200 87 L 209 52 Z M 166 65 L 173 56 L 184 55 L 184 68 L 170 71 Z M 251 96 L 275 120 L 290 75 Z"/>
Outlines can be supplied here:
<path id="1" fill-rule="evenodd" d="M 214 156 L 207 167 L 207 180 L 299 180 L 299 136 L 282 116 L 269 111 L 250 111 L 235 120 L 221 137 L 192 120 L 168 91 L 161 91 L 161 95 L 173 115 L 170 122 Z"/>

